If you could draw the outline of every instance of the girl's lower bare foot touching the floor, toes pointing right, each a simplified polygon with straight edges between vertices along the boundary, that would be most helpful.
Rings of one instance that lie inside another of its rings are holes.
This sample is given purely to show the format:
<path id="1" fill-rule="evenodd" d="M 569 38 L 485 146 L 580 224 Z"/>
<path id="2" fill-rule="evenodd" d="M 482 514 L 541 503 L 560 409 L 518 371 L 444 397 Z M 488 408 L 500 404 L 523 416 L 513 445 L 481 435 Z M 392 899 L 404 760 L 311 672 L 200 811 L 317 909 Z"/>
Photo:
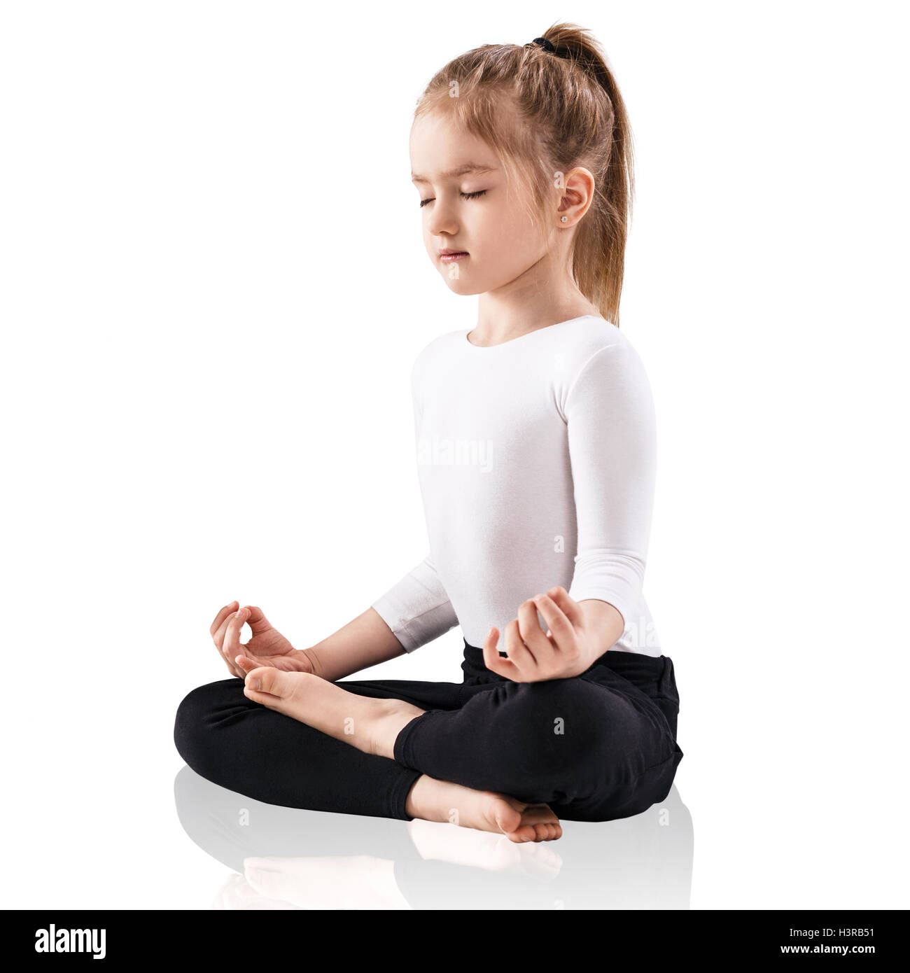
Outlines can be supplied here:
<path id="1" fill-rule="evenodd" d="M 563 835 L 559 818 L 545 804 L 525 804 L 507 794 L 420 776 L 405 810 L 425 821 L 449 821 L 505 835 L 512 842 L 552 842 Z"/>

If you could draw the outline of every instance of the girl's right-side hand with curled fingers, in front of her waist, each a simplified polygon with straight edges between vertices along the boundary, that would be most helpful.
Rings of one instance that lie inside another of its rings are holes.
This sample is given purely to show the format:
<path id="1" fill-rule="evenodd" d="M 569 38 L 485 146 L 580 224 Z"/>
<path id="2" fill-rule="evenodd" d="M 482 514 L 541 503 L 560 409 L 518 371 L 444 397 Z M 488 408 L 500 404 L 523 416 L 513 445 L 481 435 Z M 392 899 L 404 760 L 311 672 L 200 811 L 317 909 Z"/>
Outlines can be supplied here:
<path id="1" fill-rule="evenodd" d="M 549 631 L 543 631 L 537 612 Z M 487 668 L 512 682 L 542 682 L 579 675 L 601 654 L 595 639 L 586 630 L 579 603 L 561 586 L 546 595 L 535 595 L 519 605 L 518 618 L 505 628 L 503 659 L 496 648 L 499 631 L 491 627 L 484 639 Z"/>

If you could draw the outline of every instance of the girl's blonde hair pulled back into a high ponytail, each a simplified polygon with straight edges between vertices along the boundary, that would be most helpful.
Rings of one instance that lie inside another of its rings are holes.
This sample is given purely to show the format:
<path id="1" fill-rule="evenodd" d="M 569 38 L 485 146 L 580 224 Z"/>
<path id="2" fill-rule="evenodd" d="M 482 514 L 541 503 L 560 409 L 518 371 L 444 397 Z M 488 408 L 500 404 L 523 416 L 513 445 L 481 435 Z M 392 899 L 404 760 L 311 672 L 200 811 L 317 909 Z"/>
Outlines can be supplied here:
<path id="1" fill-rule="evenodd" d="M 557 23 L 542 38 L 553 51 L 533 42 L 487 44 L 455 57 L 423 90 L 415 119 L 448 111 L 484 139 L 507 176 L 528 189 L 535 220 L 552 206 L 561 173 L 590 169 L 595 197 L 575 232 L 572 276 L 618 327 L 635 188 L 626 106 L 590 31 Z M 503 117 L 506 106 L 517 109 L 519 125 Z"/>

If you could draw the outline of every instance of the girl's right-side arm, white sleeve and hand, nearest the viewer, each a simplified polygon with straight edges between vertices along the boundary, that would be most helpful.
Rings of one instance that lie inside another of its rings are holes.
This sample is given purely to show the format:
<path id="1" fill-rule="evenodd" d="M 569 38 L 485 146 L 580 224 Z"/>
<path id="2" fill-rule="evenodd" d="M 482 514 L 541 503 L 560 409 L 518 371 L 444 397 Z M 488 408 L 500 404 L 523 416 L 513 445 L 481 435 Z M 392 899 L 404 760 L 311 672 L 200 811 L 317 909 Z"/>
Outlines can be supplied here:
<path id="1" fill-rule="evenodd" d="M 631 344 L 617 338 L 589 358 L 566 395 L 564 414 L 578 523 L 571 587 L 528 598 L 501 633 L 501 646 L 495 628 L 484 641 L 487 667 L 517 682 L 578 675 L 637 623 L 656 430 L 651 387 Z"/>

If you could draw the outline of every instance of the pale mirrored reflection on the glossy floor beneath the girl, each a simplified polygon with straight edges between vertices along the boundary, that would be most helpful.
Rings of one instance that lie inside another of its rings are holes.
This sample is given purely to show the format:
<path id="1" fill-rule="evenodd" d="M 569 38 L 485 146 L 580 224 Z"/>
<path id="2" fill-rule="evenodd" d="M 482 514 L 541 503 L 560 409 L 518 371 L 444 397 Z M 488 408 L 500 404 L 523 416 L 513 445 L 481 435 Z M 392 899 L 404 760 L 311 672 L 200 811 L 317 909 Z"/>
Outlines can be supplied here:
<path id="1" fill-rule="evenodd" d="M 225 867 L 215 909 L 688 909 L 692 815 L 673 785 L 635 817 L 564 821 L 558 842 L 251 801 L 184 767 L 189 838 Z"/>

